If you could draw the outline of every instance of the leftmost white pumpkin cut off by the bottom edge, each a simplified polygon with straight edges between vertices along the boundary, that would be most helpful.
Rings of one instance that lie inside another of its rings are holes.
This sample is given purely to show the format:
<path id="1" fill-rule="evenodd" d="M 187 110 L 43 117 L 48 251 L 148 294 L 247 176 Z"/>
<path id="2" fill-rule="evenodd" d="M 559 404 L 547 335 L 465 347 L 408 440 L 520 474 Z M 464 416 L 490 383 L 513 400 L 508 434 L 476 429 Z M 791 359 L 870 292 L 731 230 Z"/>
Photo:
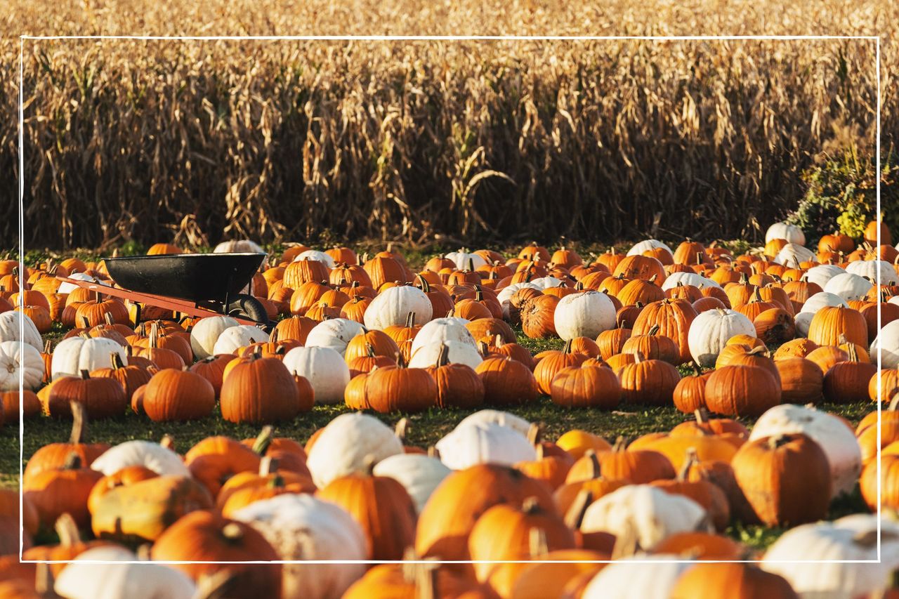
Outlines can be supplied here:
<path id="1" fill-rule="evenodd" d="M 172 566 L 114 563 L 129 561 L 138 556 L 123 547 L 86 550 L 58 574 L 53 590 L 66 599 L 191 599 L 197 592 L 191 577 Z"/>

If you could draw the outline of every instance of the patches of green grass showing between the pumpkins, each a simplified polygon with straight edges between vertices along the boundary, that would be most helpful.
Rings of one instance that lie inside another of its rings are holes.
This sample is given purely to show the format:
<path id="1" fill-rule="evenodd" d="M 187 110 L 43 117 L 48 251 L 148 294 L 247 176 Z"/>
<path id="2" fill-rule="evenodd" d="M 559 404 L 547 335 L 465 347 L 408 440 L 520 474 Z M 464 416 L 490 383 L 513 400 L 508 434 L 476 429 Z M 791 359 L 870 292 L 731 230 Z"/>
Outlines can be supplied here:
<path id="1" fill-rule="evenodd" d="M 562 342 L 559 339 L 529 339 L 516 333 L 519 341 L 537 353 L 546 349 L 558 349 Z M 62 335 L 55 330 L 52 337 Z M 508 408 L 518 416 L 531 422 L 543 423 L 546 426 L 547 439 L 556 439 L 565 431 L 579 428 L 600 434 L 606 439 L 615 439 L 619 435 L 636 437 L 641 434 L 668 431 L 673 426 L 690 419 L 673 407 L 639 407 L 621 406 L 614 411 L 592 409 L 564 409 L 555 406 L 549 398 L 542 396 L 533 404 Z M 874 409 L 869 403 L 834 405 L 823 404 L 819 409 L 839 414 L 851 423 L 857 424 L 862 416 Z M 316 428 L 326 425 L 334 416 L 348 411 L 344 406 L 316 406 L 307 414 L 298 416 L 293 422 L 280 423 L 275 426 L 275 434 L 287 436 L 305 443 Z M 411 426 L 407 432 L 407 443 L 428 447 L 436 443 L 442 435 L 449 431 L 459 420 L 472 414 L 475 410 L 436 409 L 432 408 L 421 414 L 407 416 Z M 387 425 L 395 425 L 402 415 L 372 414 Z M 744 424 L 752 426 L 752 420 L 743 419 Z M 70 422 L 41 417 L 25 423 L 24 455 L 27 460 L 34 451 L 47 443 L 66 441 Z M 90 425 L 89 438 L 93 443 L 123 443 L 133 439 L 159 440 L 165 434 L 174 437 L 178 451 L 186 451 L 192 444 L 216 434 L 224 434 L 236 439 L 254 437 L 258 433 L 254 425 L 234 425 L 220 417 L 218 407 L 213 416 L 201 421 L 187 423 L 154 423 L 146 416 L 128 413 L 120 418 L 103 420 Z M 18 487 L 19 469 L 19 437 L 13 426 L 0 429 L 0 486 Z M 859 495 L 858 487 L 850 496 L 834 501 L 830 517 L 867 512 L 867 507 Z M 747 546 L 764 550 L 771 542 L 776 541 L 783 530 L 766 526 L 743 525 L 734 522 L 727 529 L 727 534 Z"/>

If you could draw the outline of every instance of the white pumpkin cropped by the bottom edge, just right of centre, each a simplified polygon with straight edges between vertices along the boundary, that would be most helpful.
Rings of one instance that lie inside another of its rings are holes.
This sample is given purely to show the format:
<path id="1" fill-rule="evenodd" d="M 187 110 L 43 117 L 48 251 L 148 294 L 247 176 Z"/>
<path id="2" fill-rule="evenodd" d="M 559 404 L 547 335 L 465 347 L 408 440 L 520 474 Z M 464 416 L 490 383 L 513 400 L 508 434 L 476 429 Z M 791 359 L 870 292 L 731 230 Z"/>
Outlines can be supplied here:
<path id="1" fill-rule="evenodd" d="M 646 563 L 646 560 L 666 560 Z M 668 599 L 692 564 L 681 556 L 655 553 L 618 559 L 602 568 L 583 589 L 582 599 Z"/>

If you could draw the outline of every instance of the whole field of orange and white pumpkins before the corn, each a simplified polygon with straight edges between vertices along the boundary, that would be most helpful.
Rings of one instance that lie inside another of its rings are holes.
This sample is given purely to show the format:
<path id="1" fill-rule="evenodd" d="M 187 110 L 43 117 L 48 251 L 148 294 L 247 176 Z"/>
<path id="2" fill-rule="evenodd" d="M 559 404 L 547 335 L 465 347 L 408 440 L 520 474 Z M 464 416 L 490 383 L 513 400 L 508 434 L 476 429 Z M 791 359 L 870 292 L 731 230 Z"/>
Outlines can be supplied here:
<path id="1" fill-rule="evenodd" d="M 102 260 L 0 261 L 0 597 L 894 596 L 877 240 L 291 245 L 246 290 L 267 326 L 57 278 L 115 286 Z M 20 517 L 24 559 L 72 563 L 20 563 Z"/>

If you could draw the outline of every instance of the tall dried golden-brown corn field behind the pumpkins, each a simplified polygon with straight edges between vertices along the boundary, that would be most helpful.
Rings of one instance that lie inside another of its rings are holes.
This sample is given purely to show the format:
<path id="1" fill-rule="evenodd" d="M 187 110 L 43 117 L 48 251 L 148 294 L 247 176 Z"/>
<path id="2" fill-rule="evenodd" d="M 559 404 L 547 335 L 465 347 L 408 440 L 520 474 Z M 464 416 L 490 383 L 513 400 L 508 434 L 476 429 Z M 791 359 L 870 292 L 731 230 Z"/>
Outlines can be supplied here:
<path id="1" fill-rule="evenodd" d="M 138 4 L 17 3 L 4 78 L 22 33 L 887 36 L 899 17 L 886 2 Z M 899 51 L 882 44 L 888 148 Z M 869 40 L 26 40 L 24 60 L 26 246 L 758 237 L 816 156 L 875 137 Z M 0 90 L 11 174 L 18 93 Z"/>

